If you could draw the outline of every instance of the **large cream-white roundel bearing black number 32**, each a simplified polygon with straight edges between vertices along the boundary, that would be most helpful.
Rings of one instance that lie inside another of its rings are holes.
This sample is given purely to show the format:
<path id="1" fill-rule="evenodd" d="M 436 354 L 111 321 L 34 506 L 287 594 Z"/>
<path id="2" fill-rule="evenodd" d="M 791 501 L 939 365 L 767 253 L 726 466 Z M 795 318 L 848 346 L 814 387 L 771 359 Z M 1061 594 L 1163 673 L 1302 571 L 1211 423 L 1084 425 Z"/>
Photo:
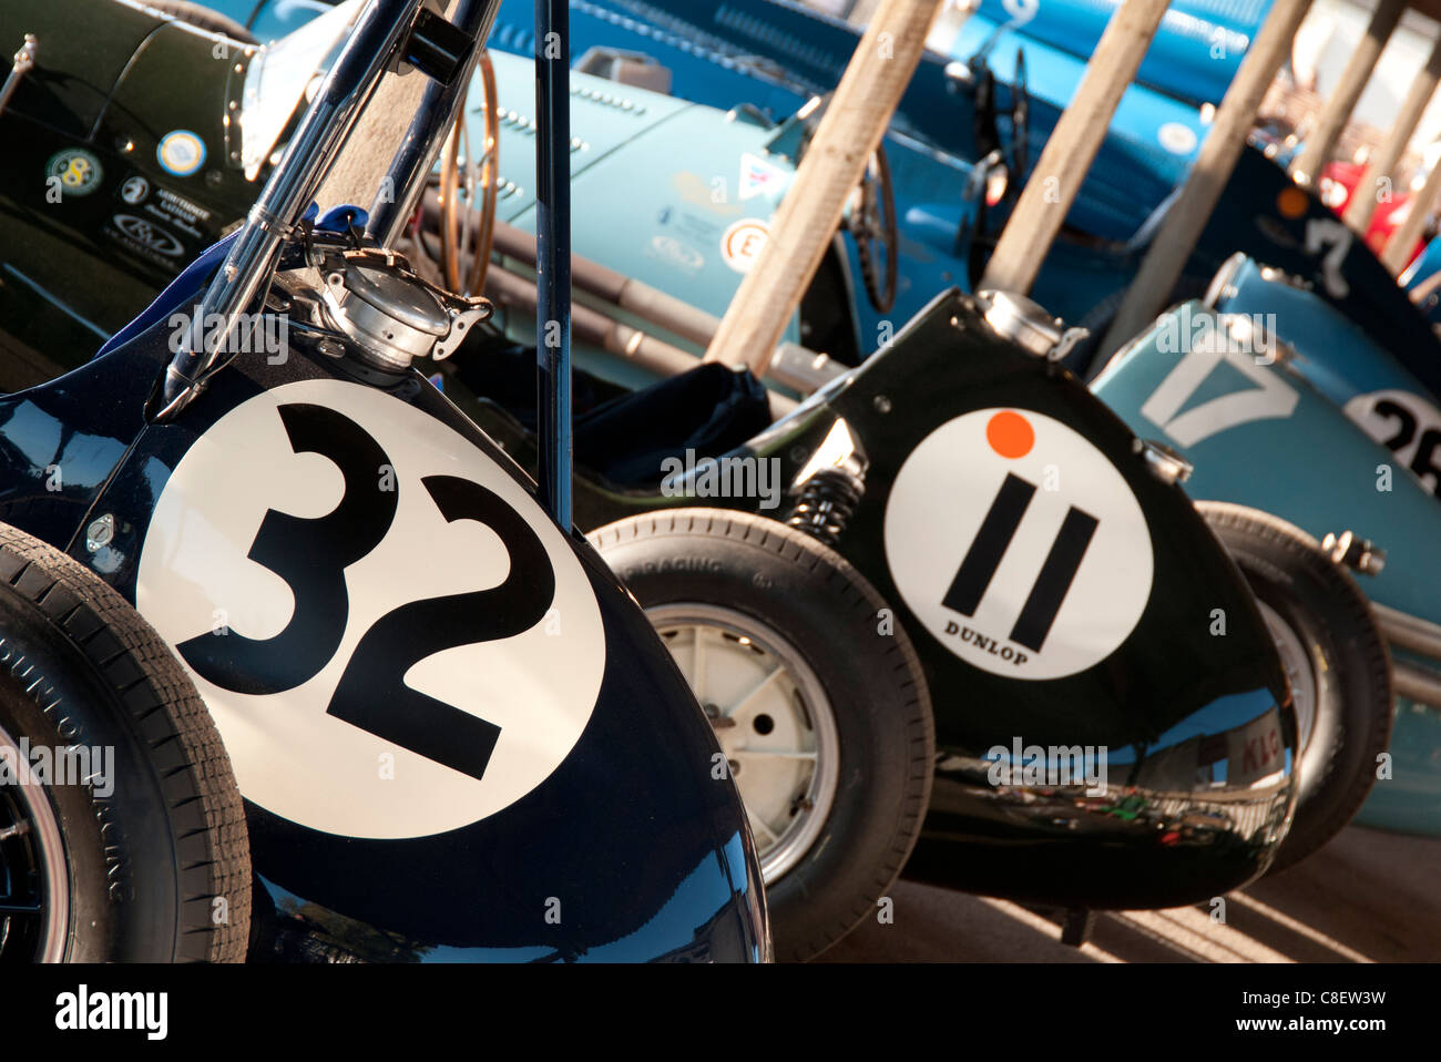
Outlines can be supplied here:
<path id="1" fill-rule="evenodd" d="M 605 670 L 594 588 L 536 500 L 447 425 L 340 380 L 261 393 L 196 439 L 137 604 L 241 793 L 350 837 L 520 800 L 579 741 Z"/>

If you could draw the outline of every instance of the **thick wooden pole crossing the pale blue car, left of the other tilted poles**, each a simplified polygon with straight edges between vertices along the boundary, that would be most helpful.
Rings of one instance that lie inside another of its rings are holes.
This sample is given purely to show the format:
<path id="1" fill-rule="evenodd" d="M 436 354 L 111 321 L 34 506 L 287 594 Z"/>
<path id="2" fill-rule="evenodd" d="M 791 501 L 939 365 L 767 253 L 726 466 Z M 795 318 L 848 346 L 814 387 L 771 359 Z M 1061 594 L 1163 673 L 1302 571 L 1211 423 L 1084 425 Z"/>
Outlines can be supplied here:
<path id="1" fill-rule="evenodd" d="M 708 362 L 746 365 L 764 375 L 840 223 L 846 199 L 866 171 L 901 102 L 931 23 L 945 0 L 883 0 L 806 150 L 771 233 L 741 281 Z"/>

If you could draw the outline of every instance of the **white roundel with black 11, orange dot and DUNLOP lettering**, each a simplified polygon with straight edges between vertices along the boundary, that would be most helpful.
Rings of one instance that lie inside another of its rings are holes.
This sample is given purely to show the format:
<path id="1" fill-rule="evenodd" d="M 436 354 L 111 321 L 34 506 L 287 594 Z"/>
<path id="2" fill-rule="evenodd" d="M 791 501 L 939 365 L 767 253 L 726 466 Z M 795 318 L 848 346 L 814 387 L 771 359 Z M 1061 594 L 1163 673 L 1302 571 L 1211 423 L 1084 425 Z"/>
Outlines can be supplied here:
<path id="1" fill-rule="evenodd" d="M 927 435 L 896 476 L 885 548 L 921 624 L 1012 679 L 1099 663 L 1151 591 L 1150 532 L 1120 471 L 1029 409 L 977 409 Z"/>

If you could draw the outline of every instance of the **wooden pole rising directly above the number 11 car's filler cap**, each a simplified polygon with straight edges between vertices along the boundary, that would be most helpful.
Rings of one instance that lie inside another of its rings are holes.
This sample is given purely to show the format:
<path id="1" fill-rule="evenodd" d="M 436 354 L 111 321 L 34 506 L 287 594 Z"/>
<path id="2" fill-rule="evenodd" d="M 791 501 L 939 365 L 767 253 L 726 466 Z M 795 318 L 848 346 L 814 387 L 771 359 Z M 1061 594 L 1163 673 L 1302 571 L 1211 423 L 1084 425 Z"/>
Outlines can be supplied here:
<path id="1" fill-rule="evenodd" d="M 986 264 L 981 290 L 1030 291 L 1167 6 L 1169 0 L 1125 0 L 1111 16 Z"/>

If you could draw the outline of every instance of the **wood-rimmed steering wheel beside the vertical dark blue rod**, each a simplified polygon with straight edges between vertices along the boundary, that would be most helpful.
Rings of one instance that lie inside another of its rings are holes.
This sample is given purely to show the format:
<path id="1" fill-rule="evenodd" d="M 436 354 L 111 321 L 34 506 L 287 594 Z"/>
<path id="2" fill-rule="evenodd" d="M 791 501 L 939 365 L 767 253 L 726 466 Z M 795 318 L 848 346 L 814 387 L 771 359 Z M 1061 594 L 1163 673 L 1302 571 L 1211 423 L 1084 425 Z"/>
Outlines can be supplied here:
<path id="1" fill-rule="evenodd" d="M 441 271 L 445 275 L 445 287 L 460 295 L 478 295 L 486 284 L 486 271 L 490 268 L 490 246 L 496 235 L 496 202 L 500 184 L 500 117 L 496 112 L 496 68 L 490 62 L 490 53 L 480 53 L 481 79 L 481 108 L 486 115 L 484 143 L 477 160 L 470 151 L 470 127 L 465 122 L 465 111 L 455 115 L 455 128 L 451 133 L 448 147 L 441 160 Z M 465 200 L 476 206 L 478 183 L 478 213 L 480 225 L 471 246 L 471 212 L 465 212 L 464 223 L 460 219 L 460 147 L 465 141 Z M 477 177 L 478 169 L 478 177 Z M 470 249 L 470 269 L 461 277 L 461 254 Z"/>

